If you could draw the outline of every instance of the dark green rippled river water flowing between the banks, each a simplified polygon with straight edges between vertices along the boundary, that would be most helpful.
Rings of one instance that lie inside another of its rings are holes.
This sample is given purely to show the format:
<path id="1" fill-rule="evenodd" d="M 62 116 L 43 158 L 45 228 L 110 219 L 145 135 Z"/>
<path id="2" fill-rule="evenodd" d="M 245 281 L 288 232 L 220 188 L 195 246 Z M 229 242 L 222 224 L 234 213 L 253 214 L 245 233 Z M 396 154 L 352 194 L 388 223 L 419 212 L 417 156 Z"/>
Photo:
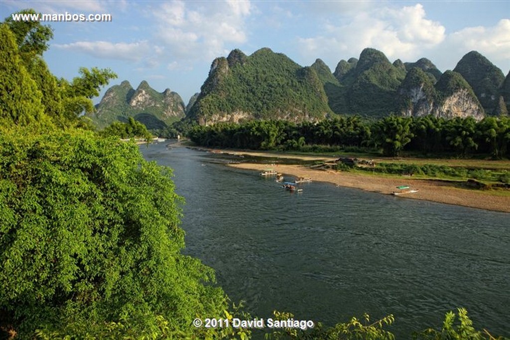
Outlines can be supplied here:
<path id="1" fill-rule="evenodd" d="M 406 339 L 465 307 L 475 327 L 510 335 L 510 214 L 321 182 L 293 194 L 222 155 L 140 150 L 174 169 L 184 253 L 253 316 L 276 309 L 334 325 L 393 314 L 388 329 Z"/>

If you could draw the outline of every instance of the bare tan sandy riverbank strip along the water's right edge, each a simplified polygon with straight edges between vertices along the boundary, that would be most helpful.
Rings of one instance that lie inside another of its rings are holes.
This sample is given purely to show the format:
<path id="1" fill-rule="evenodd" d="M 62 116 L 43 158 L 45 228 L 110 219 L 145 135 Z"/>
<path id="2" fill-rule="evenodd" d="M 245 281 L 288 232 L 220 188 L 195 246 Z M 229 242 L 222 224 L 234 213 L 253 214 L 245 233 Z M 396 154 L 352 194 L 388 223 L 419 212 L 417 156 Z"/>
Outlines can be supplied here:
<path id="1" fill-rule="evenodd" d="M 258 172 L 268 167 L 267 164 L 253 163 L 231 164 L 230 166 L 240 169 L 257 170 Z M 399 198 L 423 199 L 510 213 L 510 197 L 498 196 L 497 193 L 491 191 L 458 188 L 453 182 L 449 181 L 374 176 L 333 170 L 314 170 L 300 165 L 278 164 L 273 166 L 273 169 L 288 175 L 311 177 L 314 181 L 329 182 L 338 186 L 358 188 L 381 194 L 391 194 L 396 186 L 409 185 L 412 188 L 418 188 L 419 192 L 398 196 Z"/>

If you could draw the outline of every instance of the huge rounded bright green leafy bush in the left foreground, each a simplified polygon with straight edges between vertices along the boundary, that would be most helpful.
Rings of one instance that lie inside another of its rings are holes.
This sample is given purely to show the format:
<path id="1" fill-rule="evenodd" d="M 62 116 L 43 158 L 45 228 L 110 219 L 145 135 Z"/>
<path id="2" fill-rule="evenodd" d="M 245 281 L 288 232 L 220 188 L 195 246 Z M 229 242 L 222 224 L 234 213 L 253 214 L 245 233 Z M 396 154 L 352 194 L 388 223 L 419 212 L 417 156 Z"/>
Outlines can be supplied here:
<path id="1" fill-rule="evenodd" d="M 0 135 L 0 329 L 94 336 L 159 327 L 205 338 L 224 317 L 214 272 L 181 254 L 182 199 L 171 170 L 117 138 L 68 129 Z M 202 335 L 199 335 L 202 334 Z"/>

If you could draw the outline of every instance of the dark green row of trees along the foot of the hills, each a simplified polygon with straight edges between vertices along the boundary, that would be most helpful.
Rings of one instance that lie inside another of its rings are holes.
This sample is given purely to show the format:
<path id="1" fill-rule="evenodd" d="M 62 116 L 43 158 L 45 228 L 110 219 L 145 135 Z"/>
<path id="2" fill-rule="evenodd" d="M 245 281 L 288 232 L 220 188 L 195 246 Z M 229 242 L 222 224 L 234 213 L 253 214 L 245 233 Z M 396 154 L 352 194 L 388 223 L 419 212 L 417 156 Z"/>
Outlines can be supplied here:
<path id="1" fill-rule="evenodd" d="M 510 119 L 389 117 L 368 122 L 358 116 L 316 123 L 283 120 L 194 126 L 190 139 L 203 146 L 296 151 L 374 151 L 397 156 L 402 150 L 423 154 L 490 154 L 510 157 Z"/>

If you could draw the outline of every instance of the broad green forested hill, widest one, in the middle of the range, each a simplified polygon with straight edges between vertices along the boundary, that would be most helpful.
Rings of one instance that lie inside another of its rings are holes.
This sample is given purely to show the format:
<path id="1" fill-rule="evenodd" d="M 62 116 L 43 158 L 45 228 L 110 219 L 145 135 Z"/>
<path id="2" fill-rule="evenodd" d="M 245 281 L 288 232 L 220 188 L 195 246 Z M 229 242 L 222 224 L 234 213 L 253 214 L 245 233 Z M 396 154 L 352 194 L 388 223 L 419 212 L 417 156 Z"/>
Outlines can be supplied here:
<path id="1" fill-rule="evenodd" d="M 317 73 L 262 48 L 216 58 L 188 117 L 201 124 L 244 119 L 318 120 L 331 114 Z"/>

